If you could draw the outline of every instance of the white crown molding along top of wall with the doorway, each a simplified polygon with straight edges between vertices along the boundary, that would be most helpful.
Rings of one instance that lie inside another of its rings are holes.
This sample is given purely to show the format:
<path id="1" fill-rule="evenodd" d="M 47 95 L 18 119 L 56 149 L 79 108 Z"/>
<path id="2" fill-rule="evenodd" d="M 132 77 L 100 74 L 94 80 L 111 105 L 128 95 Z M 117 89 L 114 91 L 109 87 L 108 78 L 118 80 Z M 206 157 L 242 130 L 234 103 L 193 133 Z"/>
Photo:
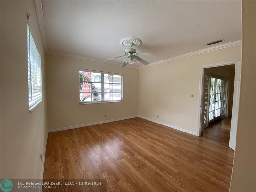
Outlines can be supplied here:
<path id="1" fill-rule="evenodd" d="M 175 57 L 171 57 L 169 59 L 165 59 L 165 60 L 157 61 L 157 62 L 154 62 L 154 63 L 150 63 L 146 66 L 141 66 L 139 68 L 140 69 L 141 68 L 146 68 L 146 67 L 150 67 L 150 66 L 153 66 L 153 65 L 158 65 L 158 64 L 161 64 L 161 63 L 172 61 L 172 60 L 178 60 L 178 59 L 182 59 L 182 58 L 185 58 L 185 57 L 198 55 L 198 54 L 201 54 L 201 53 L 206 53 L 206 52 L 210 52 L 210 51 L 216 51 L 216 50 L 219 50 L 219 49 L 233 47 L 233 46 L 241 45 L 241 43 L 242 43 L 242 40 L 233 41 L 233 42 L 229 42 L 229 43 L 225 43 L 225 44 L 220 44 L 220 45 L 216 45 L 216 46 L 209 47 L 209 48 L 206 48 L 206 49 L 201 49 L 201 50 L 198 50 L 198 51 L 189 52 L 189 53 L 186 53 L 186 54 L 183 54 L 183 55 L 178 55 L 178 56 L 175 56 Z"/>

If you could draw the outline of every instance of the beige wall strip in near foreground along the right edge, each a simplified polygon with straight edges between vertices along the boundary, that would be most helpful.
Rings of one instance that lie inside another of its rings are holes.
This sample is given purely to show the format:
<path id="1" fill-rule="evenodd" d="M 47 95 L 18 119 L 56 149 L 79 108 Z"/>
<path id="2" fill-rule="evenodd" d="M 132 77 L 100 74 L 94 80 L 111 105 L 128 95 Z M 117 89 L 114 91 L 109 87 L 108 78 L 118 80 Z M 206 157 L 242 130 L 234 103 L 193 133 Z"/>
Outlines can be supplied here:
<path id="1" fill-rule="evenodd" d="M 256 1 L 242 1 L 242 74 L 230 192 L 256 190 Z"/>

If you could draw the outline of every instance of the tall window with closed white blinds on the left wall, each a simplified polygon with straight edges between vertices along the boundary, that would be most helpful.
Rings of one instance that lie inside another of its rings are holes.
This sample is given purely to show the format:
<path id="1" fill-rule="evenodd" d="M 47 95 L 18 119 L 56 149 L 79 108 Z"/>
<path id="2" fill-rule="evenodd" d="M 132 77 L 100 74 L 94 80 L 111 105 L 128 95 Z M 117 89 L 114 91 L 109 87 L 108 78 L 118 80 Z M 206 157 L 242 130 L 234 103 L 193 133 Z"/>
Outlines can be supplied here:
<path id="1" fill-rule="evenodd" d="M 29 110 L 35 108 L 42 100 L 41 56 L 27 26 L 28 43 L 28 100 Z"/>

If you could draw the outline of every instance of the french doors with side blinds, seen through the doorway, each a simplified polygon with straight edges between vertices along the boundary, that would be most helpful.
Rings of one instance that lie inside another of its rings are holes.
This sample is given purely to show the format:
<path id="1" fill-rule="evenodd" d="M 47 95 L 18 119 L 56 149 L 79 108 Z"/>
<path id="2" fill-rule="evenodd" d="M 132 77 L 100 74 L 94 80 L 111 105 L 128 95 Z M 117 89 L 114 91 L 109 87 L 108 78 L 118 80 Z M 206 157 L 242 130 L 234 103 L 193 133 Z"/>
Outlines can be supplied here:
<path id="1" fill-rule="evenodd" d="M 227 115 L 228 80 L 208 74 L 204 77 L 204 128 Z"/>

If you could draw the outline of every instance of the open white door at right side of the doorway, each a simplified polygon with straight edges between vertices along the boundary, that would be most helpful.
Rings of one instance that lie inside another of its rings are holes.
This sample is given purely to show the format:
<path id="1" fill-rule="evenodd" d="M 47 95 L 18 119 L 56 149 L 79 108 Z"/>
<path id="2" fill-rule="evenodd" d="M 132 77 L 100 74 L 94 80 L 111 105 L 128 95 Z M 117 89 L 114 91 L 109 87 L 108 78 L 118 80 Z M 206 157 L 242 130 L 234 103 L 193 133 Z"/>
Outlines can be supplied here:
<path id="1" fill-rule="evenodd" d="M 234 80 L 234 96 L 232 105 L 232 119 L 230 128 L 229 147 L 235 150 L 236 147 L 236 132 L 237 132 L 237 120 L 240 98 L 240 80 L 241 80 L 241 61 L 236 63 L 235 66 L 235 80 Z"/>

